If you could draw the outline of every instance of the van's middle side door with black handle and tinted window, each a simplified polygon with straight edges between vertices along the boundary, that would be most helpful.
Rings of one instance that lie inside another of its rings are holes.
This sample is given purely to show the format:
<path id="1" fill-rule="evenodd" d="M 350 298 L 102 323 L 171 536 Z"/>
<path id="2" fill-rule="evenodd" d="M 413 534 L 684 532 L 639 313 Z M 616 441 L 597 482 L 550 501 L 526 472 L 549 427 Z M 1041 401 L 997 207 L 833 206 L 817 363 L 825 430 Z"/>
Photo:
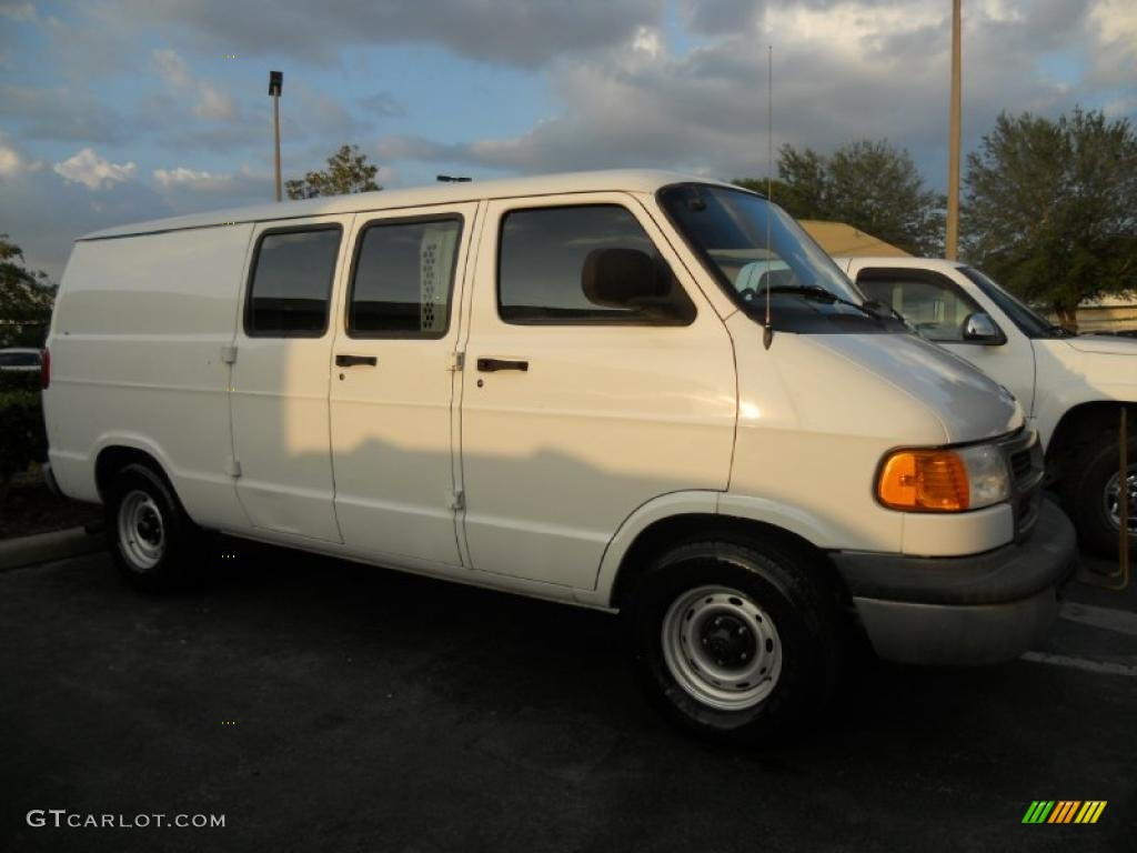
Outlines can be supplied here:
<path id="1" fill-rule="evenodd" d="M 476 204 L 360 213 L 332 354 L 343 541 L 393 563 L 460 565 L 453 400 Z"/>

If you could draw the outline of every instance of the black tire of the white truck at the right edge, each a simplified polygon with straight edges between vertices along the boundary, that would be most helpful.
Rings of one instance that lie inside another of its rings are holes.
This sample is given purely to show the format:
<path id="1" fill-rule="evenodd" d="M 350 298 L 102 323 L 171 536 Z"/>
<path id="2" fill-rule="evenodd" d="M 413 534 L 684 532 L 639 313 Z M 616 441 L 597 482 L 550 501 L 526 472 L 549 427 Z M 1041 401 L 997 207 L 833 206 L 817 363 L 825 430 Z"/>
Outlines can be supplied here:
<path id="1" fill-rule="evenodd" d="M 1106 511 L 1105 490 L 1118 473 L 1117 429 L 1106 429 L 1096 441 L 1079 445 L 1071 454 L 1062 483 L 1062 505 L 1078 529 L 1082 547 L 1103 557 L 1117 558 L 1119 528 Z M 1137 473 L 1137 436 L 1128 444 L 1130 475 Z M 1130 529 L 1137 507 L 1129 504 Z M 1129 535 L 1129 548 L 1137 548 L 1137 535 Z"/>

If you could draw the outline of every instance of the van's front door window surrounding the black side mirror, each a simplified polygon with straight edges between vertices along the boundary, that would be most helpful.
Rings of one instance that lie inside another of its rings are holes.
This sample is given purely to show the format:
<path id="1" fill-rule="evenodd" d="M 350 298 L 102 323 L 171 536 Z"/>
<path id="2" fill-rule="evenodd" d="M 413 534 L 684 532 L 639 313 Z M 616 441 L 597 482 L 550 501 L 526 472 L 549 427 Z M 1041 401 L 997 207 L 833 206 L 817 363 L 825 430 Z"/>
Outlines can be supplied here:
<path id="1" fill-rule="evenodd" d="M 634 249 L 666 284 L 662 298 L 598 303 L 584 287 L 586 262 L 603 249 Z M 687 325 L 695 305 L 631 212 L 619 205 L 513 210 L 501 223 L 498 314 L 520 324 Z"/>

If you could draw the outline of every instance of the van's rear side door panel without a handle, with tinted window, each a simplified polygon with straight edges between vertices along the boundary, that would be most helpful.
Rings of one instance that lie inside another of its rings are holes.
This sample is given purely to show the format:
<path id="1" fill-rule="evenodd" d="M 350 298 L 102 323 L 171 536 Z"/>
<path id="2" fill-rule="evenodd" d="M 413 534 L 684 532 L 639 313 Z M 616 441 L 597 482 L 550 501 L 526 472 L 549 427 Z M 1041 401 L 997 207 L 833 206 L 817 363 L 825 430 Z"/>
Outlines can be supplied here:
<path id="1" fill-rule="evenodd" d="M 331 306 L 351 218 L 257 225 L 230 389 L 231 473 L 252 525 L 337 543 L 327 421 Z"/>

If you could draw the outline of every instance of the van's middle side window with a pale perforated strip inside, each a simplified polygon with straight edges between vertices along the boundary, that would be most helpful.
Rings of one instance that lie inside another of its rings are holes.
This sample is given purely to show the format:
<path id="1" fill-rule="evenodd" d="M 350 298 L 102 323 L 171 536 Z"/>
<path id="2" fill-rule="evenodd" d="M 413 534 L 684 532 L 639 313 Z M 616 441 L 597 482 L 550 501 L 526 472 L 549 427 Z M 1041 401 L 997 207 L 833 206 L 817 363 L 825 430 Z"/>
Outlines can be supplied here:
<path id="1" fill-rule="evenodd" d="M 457 217 L 366 225 L 356 242 L 348 334 L 443 337 L 460 233 Z"/>

